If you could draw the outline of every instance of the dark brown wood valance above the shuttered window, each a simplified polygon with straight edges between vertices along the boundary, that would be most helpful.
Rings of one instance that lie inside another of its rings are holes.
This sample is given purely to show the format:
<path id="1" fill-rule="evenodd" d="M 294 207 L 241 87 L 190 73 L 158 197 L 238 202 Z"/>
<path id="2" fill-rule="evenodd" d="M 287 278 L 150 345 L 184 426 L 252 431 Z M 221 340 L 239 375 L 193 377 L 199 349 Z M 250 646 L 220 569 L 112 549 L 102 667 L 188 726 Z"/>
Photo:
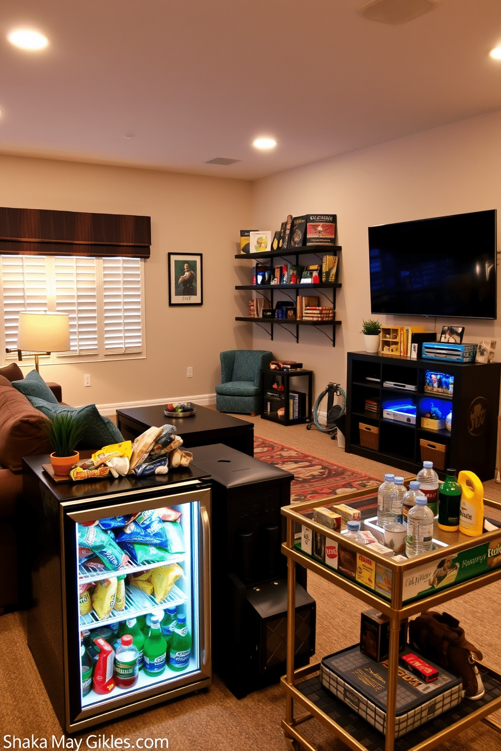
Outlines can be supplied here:
<path id="1" fill-rule="evenodd" d="M 149 258 L 151 219 L 0 207 L 0 253 Z"/>

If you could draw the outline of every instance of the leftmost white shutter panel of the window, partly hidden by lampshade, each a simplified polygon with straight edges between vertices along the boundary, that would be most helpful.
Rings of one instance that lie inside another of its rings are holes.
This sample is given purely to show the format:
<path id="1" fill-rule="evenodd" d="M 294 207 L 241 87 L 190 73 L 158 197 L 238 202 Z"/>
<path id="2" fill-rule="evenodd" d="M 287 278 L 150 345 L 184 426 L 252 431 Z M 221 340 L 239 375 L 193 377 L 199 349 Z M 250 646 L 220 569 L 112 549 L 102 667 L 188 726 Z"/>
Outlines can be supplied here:
<path id="1" fill-rule="evenodd" d="M 17 348 L 20 310 L 47 310 L 47 264 L 41 255 L 2 255 L 5 346 Z"/>

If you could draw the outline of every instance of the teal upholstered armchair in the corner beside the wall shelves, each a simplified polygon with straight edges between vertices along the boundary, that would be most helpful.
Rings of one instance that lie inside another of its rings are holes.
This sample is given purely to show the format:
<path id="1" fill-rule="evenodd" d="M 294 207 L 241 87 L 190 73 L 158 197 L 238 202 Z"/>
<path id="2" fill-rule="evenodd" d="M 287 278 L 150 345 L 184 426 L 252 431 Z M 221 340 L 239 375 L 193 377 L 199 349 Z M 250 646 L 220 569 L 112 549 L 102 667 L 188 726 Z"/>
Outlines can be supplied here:
<path id="1" fill-rule="evenodd" d="M 270 367 L 273 352 L 264 349 L 230 349 L 219 354 L 221 383 L 216 386 L 219 412 L 261 412 L 261 369 Z"/>

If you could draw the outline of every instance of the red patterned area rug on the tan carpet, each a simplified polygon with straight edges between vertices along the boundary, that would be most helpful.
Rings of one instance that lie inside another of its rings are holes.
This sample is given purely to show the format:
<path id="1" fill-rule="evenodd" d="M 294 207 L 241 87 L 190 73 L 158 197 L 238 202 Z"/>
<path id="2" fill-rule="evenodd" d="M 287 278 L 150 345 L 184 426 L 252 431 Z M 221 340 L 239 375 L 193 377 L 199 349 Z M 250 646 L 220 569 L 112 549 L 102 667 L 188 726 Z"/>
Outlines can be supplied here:
<path id="1" fill-rule="evenodd" d="M 254 456 L 294 475 L 291 483 L 291 503 L 328 498 L 349 493 L 351 490 L 364 490 L 375 483 L 381 483 L 380 478 L 327 462 L 325 459 L 318 459 L 311 454 L 298 451 L 297 448 L 258 436 L 254 437 Z"/>

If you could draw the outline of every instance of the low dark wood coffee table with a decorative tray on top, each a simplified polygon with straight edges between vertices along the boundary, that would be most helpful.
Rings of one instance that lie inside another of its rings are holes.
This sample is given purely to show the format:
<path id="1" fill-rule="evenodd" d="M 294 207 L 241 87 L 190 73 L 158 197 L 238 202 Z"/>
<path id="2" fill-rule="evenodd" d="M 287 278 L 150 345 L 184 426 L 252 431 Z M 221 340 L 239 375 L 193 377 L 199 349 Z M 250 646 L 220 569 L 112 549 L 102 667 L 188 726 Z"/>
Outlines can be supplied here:
<path id="1" fill-rule="evenodd" d="M 196 412 L 191 418 L 166 417 L 161 405 L 117 409 L 116 424 L 126 441 L 134 441 L 134 438 L 152 425 L 161 427 L 171 424 L 177 427 L 177 435 L 183 439 L 185 448 L 223 443 L 243 454 L 249 454 L 249 457 L 254 456 L 253 423 L 198 404 L 193 406 Z"/>

